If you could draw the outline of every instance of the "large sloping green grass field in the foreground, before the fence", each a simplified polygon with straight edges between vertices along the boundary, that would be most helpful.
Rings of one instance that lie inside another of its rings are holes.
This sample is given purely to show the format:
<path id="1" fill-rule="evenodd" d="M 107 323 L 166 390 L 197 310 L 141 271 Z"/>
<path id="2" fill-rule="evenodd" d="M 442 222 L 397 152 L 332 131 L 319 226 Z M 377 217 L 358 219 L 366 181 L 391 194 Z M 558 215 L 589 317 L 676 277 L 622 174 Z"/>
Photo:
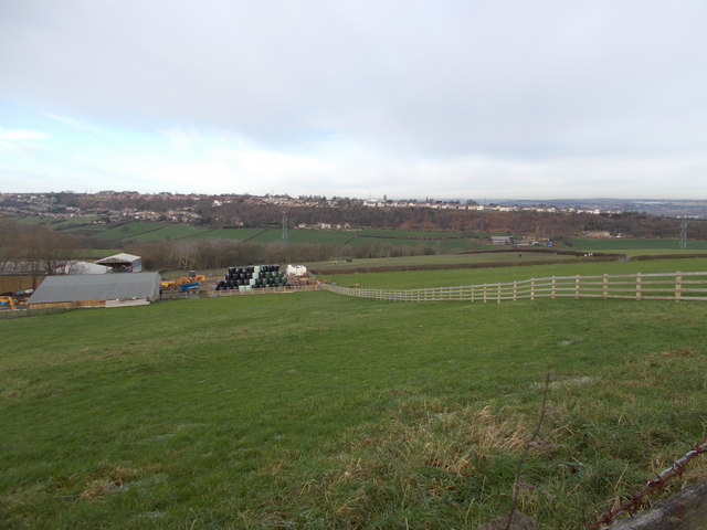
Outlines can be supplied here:
<path id="1" fill-rule="evenodd" d="M 672 265 L 592 266 L 646 264 Z M 21 338 L 0 358 L 2 528 L 476 528 L 509 508 L 548 369 L 520 508 L 584 528 L 703 435 L 706 318 L 306 293 L 0 321 Z"/>

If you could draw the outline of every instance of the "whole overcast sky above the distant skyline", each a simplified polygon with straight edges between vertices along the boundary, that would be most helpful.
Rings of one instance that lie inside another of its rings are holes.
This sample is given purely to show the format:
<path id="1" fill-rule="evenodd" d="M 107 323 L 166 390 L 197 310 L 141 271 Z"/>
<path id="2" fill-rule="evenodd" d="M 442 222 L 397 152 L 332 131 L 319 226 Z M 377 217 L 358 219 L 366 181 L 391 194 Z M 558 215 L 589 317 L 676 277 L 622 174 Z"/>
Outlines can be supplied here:
<path id="1" fill-rule="evenodd" d="M 707 199 L 704 0 L 0 0 L 0 191 Z"/>

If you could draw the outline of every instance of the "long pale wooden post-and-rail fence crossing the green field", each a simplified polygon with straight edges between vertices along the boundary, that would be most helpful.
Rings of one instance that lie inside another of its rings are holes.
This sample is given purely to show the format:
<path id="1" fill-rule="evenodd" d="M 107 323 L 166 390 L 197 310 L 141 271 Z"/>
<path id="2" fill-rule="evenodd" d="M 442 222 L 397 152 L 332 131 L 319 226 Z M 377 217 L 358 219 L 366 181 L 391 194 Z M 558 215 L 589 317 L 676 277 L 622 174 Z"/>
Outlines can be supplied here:
<path id="1" fill-rule="evenodd" d="M 393 301 L 497 303 L 537 298 L 624 298 L 635 300 L 707 301 L 707 273 L 551 276 L 504 284 L 461 285 L 424 289 L 360 289 L 320 284 L 340 295 Z"/>

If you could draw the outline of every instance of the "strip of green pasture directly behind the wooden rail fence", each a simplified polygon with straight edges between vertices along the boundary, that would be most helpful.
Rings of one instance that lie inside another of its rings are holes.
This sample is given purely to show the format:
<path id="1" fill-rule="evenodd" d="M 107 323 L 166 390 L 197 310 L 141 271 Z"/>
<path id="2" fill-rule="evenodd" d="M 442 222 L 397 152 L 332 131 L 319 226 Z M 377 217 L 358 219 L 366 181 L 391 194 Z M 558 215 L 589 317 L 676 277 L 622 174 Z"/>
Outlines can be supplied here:
<path id="1" fill-rule="evenodd" d="M 485 254 L 474 254 L 484 256 Z M 488 254 L 486 254 L 488 256 Z M 503 255 L 503 254 L 502 254 Z M 490 254 L 494 256 L 494 254 Z M 441 256 L 435 256 L 441 257 Z M 450 256 L 453 257 L 453 256 Z M 630 262 L 587 262 L 581 257 L 564 256 L 567 263 L 555 265 L 525 265 L 494 268 L 458 268 L 449 271 L 414 271 L 390 273 L 320 274 L 320 278 L 347 286 L 359 284 L 363 288 L 422 288 L 456 285 L 482 285 L 550 276 L 674 273 L 707 271 L 707 258 L 651 259 Z M 525 257 L 523 258 L 525 259 Z M 388 262 L 388 259 L 387 259 Z M 354 262 L 354 264 L 356 261 Z M 526 262 L 527 263 L 527 262 Z M 510 265 L 510 263 L 509 263 Z"/>

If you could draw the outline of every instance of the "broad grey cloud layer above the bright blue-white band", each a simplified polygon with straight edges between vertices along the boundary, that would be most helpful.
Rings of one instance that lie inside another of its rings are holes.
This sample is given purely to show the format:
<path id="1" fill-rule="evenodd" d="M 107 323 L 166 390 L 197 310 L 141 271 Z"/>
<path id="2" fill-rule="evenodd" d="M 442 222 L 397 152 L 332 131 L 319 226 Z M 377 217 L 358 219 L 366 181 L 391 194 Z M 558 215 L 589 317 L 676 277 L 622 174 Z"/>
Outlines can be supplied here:
<path id="1" fill-rule="evenodd" d="M 278 147 L 697 152 L 706 15 L 688 0 L 4 2 L 0 98 Z"/>

